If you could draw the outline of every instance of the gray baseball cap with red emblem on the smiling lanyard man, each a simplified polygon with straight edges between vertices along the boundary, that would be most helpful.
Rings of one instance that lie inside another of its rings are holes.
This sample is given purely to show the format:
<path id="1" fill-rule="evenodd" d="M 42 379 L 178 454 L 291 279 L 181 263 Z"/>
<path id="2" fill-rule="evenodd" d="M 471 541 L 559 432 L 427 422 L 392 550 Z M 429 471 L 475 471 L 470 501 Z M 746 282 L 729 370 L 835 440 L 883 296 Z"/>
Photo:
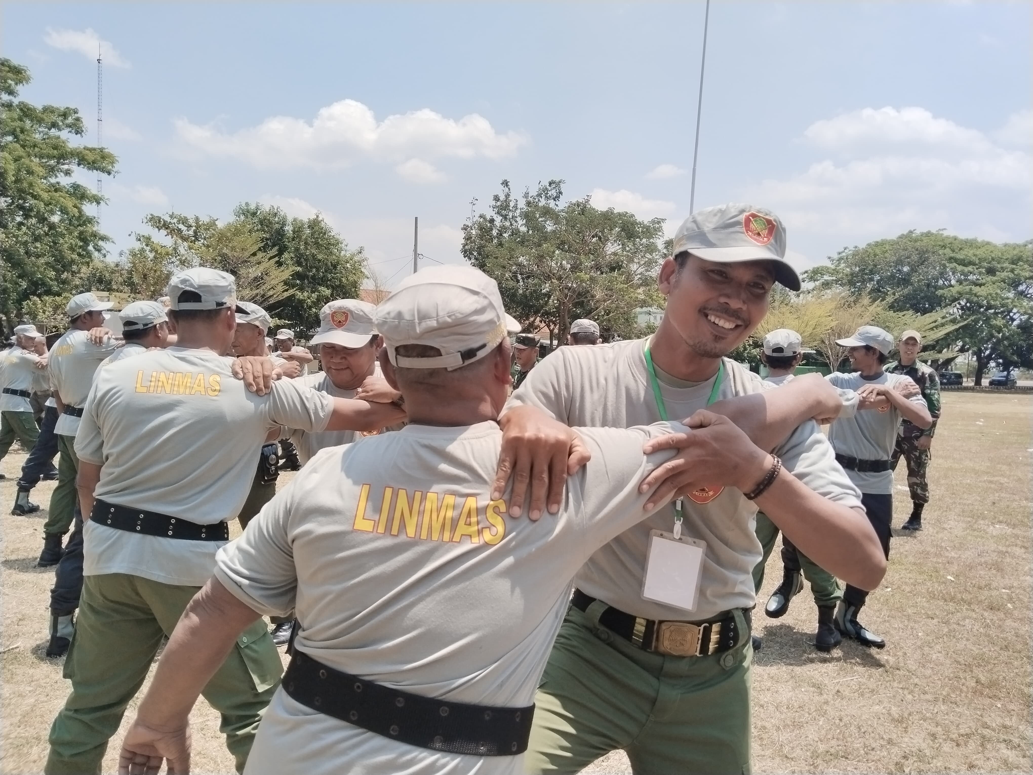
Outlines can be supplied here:
<path id="1" fill-rule="evenodd" d="M 800 275 L 785 259 L 785 226 L 774 213 L 728 204 L 693 213 L 675 233 L 674 255 L 688 251 L 708 261 L 772 261 L 775 279 L 800 290 Z"/>

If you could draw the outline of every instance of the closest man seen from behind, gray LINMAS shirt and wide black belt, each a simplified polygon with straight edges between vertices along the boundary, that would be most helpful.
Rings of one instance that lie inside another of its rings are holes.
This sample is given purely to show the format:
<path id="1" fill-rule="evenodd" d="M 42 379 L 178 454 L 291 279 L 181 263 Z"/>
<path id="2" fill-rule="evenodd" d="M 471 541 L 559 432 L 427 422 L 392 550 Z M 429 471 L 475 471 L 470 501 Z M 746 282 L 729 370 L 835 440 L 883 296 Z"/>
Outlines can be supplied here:
<path id="1" fill-rule="evenodd" d="M 469 267 L 421 270 L 376 323 L 410 425 L 322 451 L 220 550 L 126 735 L 123 766 L 156 772 L 167 757 L 184 768 L 187 717 L 208 676 L 260 613 L 296 606 L 296 651 L 247 775 L 521 772 L 570 580 L 646 516 L 648 498 L 662 502 L 638 483 L 670 453 L 647 456 L 643 442 L 686 429 L 580 429 L 592 459 L 556 517 L 514 519 L 508 491 L 490 493 L 506 334 L 519 330 L 495 281 Z M 701 421 L 713 425 L 693 433 L 714 451 L 715 485 L 793 489 L 790 476 L 769 481 L 776 463 L 738 427 Z"/>

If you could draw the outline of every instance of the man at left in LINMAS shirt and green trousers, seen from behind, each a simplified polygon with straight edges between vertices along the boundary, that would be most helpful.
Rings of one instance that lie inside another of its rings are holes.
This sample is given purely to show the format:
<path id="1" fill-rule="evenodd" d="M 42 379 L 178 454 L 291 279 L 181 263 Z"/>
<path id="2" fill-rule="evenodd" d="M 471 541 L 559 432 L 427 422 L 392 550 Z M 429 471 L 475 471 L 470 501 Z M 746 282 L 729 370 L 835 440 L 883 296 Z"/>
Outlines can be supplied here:
<path id="1" fill-rule="evenodd" d="M 249 393 L 232 377 L 231 275 L 173 276 L 178 343 L 105 366 L 75 439 L 84 526 L 83 597 L 65 661 L 72 690 L 51 727 L 46 775 L 99 773 L 107 740 L 161 643 L 211 576 L 271 430 L 378 428 L 395 407 L 334 399 L 289 379 Z M 261 359 L 264 361 L 265 359 Z M 155 450 L 161 454 L 155 456 Z M 206 696 L 243 769 L 280 660 L 257 622 L 224 653 Z"/>

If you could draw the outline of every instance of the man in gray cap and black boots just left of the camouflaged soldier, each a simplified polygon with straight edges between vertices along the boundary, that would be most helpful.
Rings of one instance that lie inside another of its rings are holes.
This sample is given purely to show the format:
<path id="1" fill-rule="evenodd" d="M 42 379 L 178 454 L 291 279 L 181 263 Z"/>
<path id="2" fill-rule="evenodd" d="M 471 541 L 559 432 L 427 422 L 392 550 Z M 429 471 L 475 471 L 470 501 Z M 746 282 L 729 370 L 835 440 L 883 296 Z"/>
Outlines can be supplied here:
<path id="1" fill-rule="evenodd" d="M 852 337 L 837 339 L 846 347 L 850 374 L 833 372 L 826 379 L 837 388 L 856 391 L 865 398 L 882 398 L 888 403 L 878 411 L 857 412 L 852 417 L 840 417 L 828 429 L 828 440 L 836 450 L 836 460 L 860 490 L 865 514 L 879 536 L 882 551 L 889 559 L 890 525 L 894 519 L 894 471 L 890 459 L 897 444 L 897 428 L 902 420 L 918 428 L 929 428 L 933 419 L 926 400 L 916 390 L 905 397 L 896 390 L 899 382 L 911 379 L 887 374 L 882 367 L 894 348 L 894 338 L 876 326 L 862 326 Z M 847 583 L 836 610 L 836 628 L 862 646 L 881 649 L 883 638 L 857 621 L 857 613 L 868 600 L 868 591 Z"/>

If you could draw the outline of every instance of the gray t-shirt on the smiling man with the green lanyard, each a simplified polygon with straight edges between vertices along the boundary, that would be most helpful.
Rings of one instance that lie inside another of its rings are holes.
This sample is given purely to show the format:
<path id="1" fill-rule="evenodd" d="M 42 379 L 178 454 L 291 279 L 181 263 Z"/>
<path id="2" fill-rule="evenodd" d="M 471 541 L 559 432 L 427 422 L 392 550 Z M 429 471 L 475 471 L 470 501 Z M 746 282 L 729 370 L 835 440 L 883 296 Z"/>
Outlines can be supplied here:
<path id="1" fill-rule="evenodd" d="M 570 426 L 627 428 L 660 420 L 646 369 L 647 340 L 595 347 L 560 347 L 543 359 L 510 398 L 537 406 Z M 765 390 L 756 374 L 724 359 L 719 398 Z M 716 378 L 716 377 L 715 377 Z M 660 382 L 667 416 L 684 420 L 706 408 L 714 378 L 691 388 Z M 770 388 L 768 385 L 766 388 Z M 774 390 L 774 388 L 772 388 Z M 860 507 L 860 493 L 836 462 L 817 423 L 801 425 L 775 450 L 786 469 L 819 495 Z M 684 611 L 641 597 L 650 531 L 669 531 L 675 509 L 667 505 L 597 551 L 576 577 L 580 589 L 611 606 L 647 619 L 696 621 L 756 601 L 752 571 L 761 559 L 754 526 L 756 506 L 732 488 L 706 503 L 684 501 L 683 534 L 707 542 L 696 610 Z"/>

